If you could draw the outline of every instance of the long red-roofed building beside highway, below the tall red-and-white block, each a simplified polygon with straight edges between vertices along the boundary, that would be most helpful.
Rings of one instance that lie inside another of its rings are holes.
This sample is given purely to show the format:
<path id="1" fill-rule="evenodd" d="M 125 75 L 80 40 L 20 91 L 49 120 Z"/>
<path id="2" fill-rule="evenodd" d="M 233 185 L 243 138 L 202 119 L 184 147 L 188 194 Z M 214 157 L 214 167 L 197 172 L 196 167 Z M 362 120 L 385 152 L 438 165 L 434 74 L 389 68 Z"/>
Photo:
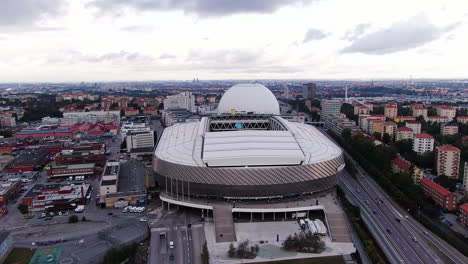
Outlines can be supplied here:
<path id="1" fill-rule="evenodd" d="M 447 211 L 457 209 L 457 196 L 439 184 L 430 179 L 423 178 L 421 180 L 421 188 L 426 197 L 430 197 L 442 209 Z"/>

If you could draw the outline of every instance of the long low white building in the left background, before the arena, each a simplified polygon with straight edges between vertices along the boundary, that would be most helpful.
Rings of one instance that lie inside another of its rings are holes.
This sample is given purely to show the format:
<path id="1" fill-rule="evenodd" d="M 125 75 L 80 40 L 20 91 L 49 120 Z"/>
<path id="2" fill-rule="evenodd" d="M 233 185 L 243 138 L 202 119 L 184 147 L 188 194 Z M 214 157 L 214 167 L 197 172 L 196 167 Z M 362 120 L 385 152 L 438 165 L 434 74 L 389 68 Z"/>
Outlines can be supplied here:
<path id="1" fill-rule="evenodd" d="M 90 112 L 64 112 L 62 125 L 74 125 L 77 123 L 97 122 L 120 124 L 120 111 L 90 111 Z"/>

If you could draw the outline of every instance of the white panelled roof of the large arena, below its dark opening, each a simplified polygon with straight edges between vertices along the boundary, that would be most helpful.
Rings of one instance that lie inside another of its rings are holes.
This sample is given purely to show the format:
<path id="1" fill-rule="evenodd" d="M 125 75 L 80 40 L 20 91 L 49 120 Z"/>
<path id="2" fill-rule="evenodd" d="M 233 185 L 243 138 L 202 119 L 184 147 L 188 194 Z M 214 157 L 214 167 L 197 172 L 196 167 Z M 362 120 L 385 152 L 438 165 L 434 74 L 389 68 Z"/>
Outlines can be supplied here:
<path id="1" fill-rule="evenodd" d="M 209 118 L 175 124 L 164 130 L 155 155 L 188 166 L 294 166 L 319 163 L 341 155 L 341 149 L 315 127 L 288 122 L 286 131 L 205 131 Z"/>

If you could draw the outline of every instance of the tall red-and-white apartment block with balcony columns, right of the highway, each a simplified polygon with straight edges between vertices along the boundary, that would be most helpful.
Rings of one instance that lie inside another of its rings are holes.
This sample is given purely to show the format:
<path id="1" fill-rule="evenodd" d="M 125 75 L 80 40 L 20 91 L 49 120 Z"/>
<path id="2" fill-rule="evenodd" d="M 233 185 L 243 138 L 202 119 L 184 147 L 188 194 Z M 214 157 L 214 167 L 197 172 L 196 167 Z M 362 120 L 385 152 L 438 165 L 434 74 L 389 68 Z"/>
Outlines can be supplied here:
<path id="1" fill-rule="evenodd" d="M 445 175 L 450 178 L 458 178 L 460 169 L 460 149 L 444 145 L 436 147 L 437 176 Z"/>

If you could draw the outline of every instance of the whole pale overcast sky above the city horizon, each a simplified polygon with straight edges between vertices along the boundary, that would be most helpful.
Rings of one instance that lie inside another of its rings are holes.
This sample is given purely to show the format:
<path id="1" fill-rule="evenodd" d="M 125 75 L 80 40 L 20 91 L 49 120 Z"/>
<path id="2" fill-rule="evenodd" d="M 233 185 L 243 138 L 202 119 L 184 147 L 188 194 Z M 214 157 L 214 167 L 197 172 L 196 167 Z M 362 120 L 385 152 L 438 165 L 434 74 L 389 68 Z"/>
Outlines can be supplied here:
<path id="1" fill-rule="evenodd" d="M 1 0 L 0 82 L 468 77 L 467 0 Z"/>

